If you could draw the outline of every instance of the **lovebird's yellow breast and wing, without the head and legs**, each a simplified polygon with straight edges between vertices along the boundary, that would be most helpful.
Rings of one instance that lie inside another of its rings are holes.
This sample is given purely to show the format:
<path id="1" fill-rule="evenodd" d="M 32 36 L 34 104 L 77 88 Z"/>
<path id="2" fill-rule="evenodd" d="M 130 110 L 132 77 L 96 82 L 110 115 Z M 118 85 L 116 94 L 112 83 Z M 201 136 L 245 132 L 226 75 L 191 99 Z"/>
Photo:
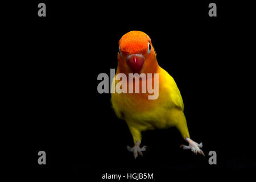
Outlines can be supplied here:
<path id="1" fill-rule="evenodd" d="M 114 78 L 115 79 L 115 78 Z M 118 81 L 113 81 L 115 86 Z M 168 127 L 168 111 L 183 109 L 183 101 L 174 79 L 159 67 L 159 97 L 148 100 L 148 93 L 112 93 L 112 105 L 118 118 L 141 131 Z"/>

